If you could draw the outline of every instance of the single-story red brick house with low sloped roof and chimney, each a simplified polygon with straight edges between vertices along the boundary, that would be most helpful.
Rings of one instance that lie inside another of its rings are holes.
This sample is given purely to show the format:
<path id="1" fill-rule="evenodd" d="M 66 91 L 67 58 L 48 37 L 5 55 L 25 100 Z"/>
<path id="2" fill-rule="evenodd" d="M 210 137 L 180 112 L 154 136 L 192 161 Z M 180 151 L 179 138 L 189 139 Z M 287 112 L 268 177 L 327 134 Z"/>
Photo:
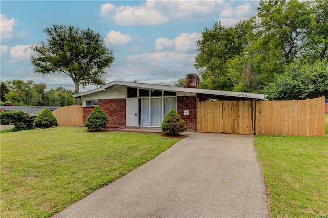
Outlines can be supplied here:
<path id="1" fill-rule="evenodd" d="M 108 125 L 160 127 L 174 108 L 188 129 L 196 130 L 196 102 L 218 100 L 263 100 L 264 94 L 199 89 L 199 76 L 187 74 L 187 87 L 113 81 L 100 88 L 73 95 L 83 101 L 83 122 L 95 106 L 103 108 Z"/>

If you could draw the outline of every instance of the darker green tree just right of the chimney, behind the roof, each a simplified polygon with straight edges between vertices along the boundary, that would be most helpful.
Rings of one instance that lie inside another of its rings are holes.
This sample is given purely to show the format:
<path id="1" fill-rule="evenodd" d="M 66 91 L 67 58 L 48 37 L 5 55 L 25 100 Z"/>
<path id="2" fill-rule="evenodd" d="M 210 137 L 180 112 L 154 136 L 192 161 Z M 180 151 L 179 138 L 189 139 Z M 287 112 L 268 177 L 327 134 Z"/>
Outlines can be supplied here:
<path id="1" fill-rule="evenodd" d="M 220 21 L 215 22 L 211 29 L 205 28 L 201 32 L 195 58 L 195 68 L 201 76 L 200 88 L 232 90 L 227 77 L 227 61 L 242 53 L 251 30 L 251 22 L 244 20 L 229 28 Z"/>

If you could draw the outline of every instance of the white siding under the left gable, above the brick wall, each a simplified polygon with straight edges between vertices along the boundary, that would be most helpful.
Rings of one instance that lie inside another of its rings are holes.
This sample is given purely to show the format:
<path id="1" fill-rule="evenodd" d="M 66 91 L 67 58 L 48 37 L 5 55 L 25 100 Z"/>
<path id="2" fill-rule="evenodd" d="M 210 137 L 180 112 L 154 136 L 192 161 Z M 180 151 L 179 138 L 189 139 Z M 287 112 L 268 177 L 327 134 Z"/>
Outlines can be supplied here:
<path id="1" fill-rule="evenodd" d="M 115 98 L 126 98 L 126 86 L 114 85 L 113 87 L 110 87 L 107 90 L 82 96 L 82 100 L 84 101 Z"/>

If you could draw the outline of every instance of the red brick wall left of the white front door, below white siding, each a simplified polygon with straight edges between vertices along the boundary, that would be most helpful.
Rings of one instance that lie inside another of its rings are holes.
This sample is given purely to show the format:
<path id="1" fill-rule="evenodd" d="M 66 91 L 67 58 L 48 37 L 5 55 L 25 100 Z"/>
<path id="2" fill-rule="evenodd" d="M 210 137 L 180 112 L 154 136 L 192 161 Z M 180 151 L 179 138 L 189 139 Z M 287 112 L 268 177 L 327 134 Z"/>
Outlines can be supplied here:
<path id="1" fill-rule="evenodd" d="M 116 99 L 99 99 L 99 106 L 106 113 L 109 123 L 107 125 L 116 125 L 119 120 L 120 126 L 126 125 L 126 101 L 124 98 Z M 83 122 L 86 121 L 94 107 L 83 107 Z"/>

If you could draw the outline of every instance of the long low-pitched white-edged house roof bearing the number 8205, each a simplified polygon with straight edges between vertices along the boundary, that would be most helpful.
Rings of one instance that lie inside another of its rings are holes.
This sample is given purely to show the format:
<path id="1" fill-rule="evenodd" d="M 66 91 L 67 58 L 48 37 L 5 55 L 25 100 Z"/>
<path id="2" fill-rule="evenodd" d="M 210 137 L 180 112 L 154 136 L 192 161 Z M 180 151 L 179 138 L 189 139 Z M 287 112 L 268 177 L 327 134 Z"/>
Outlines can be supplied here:
<path id="1" fill-rule="evenodd" d="M 86 92 L 81 92 L 73 95 L 73 97 L 80 97 L 84 95 L 88 95 L 95 92 L 100 92 L 106 90 L 114 85 L 124 85 L 134 88 L 144 88 L 144 89 L 154 89 L 154 90 L 165 90 L 172 92 L 186 92 L 186 93 L 198 93 L 203 95 L 209 95 L 213 97 L 223 97 L 223 98 L 231 98 L 236 100 L 249 100 L 249 99 L 260 99 L 263 100 L 265 98 L 264 94 L 258 93 L 246 93 L 246 92 L 232 92 L 232 91 L 223 91 L 223 90 L 207 90 L 207 89 L 197 89 L 197 88 L 185 88 L 185 87 L 177 87 L 172 85 L 157 85 L 157 84 L 147 84 L 147 83 L 136 83 L 136 82 L 122 82 L 122 81 L 113 81 L 107 83 L 99 88 L 89 90 Z"/>

